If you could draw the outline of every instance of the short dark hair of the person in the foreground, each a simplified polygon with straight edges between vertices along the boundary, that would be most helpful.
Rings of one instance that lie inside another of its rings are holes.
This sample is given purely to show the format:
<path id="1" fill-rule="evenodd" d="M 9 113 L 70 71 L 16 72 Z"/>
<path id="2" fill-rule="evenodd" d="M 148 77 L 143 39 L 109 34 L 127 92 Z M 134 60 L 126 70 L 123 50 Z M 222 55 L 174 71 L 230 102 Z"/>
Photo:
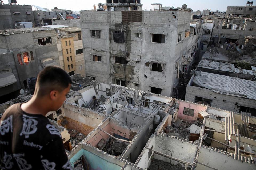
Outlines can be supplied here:
<path id="1" fill-rule="evenodd" d="M 47 66 L 37 76 L 36 89 L 39 96 L 48 94 L 52 90 L 63 91 L 72 84 L 70 76 L 58 66 Z"/>

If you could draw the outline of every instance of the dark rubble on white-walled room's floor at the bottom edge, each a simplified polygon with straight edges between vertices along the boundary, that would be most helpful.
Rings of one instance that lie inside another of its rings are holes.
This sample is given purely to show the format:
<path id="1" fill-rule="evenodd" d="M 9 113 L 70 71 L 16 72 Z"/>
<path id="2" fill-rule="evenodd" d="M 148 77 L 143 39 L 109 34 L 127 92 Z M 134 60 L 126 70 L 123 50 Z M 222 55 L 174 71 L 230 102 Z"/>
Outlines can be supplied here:
<path id="1" fill-rule="evenodd" d="M 180 163 L 178 163 L 177 165 L 172 165 L 169 162 L 153 159 L 148 169 L 149 170 L 184 170 L 184 167 L 182 167 Z"/>

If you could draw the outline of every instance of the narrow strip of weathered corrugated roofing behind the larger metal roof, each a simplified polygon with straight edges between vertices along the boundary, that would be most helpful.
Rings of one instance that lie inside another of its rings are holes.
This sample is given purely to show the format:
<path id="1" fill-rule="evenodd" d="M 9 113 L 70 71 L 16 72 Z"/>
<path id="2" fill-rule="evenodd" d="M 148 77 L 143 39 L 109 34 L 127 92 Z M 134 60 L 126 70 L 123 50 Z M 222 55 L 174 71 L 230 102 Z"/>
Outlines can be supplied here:
<path id="1" fill-rule="evenodd" d="M 256 73 L 254 73 L 253 70 L 245 70 L 245 69 L 240 70 L 238 68 L 235 68 L 234 64 L 218 62 L 218 61 L 210 61 L 210 60 L 202 59 L 198 63 L 197 67 L 211 69 L 211 70 L 227 71 L 227 72 L 233 72 L 233 73 L 256 75 Z"/>

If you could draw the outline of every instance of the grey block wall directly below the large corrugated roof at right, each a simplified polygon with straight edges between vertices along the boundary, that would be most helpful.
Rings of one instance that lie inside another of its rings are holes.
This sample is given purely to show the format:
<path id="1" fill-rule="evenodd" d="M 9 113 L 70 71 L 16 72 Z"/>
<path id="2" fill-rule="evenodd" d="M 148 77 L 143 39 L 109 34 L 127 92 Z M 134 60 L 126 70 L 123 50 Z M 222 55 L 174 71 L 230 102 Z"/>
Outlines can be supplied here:
<path id="1" fill-rule="evenodd" d="M 256 108 L 255 106 L 256 100 L 253 100 L 253 99 L 215 93 L 206 88 L 187 86 L 185 100 L 194 102 L 195 96 L 211 99 L 212 100 L 211 107 L 216 107 L 216 108 L 229 110 L 233 112 L 239 112 L 237 105 Z"/>

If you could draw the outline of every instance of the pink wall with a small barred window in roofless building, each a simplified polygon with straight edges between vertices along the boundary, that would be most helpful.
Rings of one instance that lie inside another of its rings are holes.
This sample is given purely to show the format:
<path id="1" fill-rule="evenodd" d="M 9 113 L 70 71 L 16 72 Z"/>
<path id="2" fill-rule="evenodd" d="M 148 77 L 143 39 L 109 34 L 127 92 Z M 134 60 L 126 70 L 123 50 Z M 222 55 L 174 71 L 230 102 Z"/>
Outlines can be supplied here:
<path id="1" fill-rule="evenodd" d="M 194 116 L 187 116 L 183 114 L 184 107 L 194 109 Z M 206 106 L 203 106 L 203 105 L 179 101 L 178 118 L 183 120 L 197 120 L 198 112 L 204 111 L 205 109 L 206 109 Z"/>

